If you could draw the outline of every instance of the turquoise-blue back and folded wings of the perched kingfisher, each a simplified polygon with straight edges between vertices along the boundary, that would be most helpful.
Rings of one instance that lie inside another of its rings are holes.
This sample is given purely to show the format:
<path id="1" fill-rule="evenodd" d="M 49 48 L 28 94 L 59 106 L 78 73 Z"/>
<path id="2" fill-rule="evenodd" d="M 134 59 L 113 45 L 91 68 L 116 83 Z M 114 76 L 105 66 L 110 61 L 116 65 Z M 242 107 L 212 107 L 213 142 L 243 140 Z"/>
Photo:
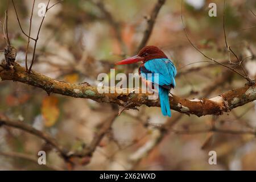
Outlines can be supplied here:
<path id="1" fill-rule="evenodd" d="M 144 65 L 142 65 L 141 73 L 144 73 L 142 74 L 142 77 L 146 78 L 146 80 L 149 80 L 151 82 L 155 82 L 155 73 L 158 73 L 159 80 L 156 84 L 159 84 L 160 86 L 176 86 L 176 67 L 169 59 L 151 59 L 144 63 Z M 147 73 L 152 74 L 150 75 Z"/>

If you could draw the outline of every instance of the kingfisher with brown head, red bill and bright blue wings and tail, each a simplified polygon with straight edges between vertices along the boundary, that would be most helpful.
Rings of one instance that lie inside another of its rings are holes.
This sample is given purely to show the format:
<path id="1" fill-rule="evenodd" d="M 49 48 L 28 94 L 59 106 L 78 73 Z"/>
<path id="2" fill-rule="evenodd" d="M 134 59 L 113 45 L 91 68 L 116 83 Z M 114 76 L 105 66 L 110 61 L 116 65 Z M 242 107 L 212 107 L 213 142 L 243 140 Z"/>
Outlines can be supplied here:
<path id="1" fill-rule="evenodd" d="M 177 74 L 174 63 L 156 46 L 146 46 L 139 51 L 138 55 L 129 57 L 125 60 L 118 61 L 116 65 L 132 64 L 142 62 L 139 67 L 139 75 L 142 80 L 150 82 L 152 85 L 158 84 L 158 93 L 160 106 L 163 115 L 171 117 L 169 102 L 169 92 L 175 88 L 175 76 Z M 142 74 L 143 73 L 143 74 Z M 150 73 L 150 74 L 148 74 Z M 158 82 L 154 82 L 154 74 L 158 73 Z"/>

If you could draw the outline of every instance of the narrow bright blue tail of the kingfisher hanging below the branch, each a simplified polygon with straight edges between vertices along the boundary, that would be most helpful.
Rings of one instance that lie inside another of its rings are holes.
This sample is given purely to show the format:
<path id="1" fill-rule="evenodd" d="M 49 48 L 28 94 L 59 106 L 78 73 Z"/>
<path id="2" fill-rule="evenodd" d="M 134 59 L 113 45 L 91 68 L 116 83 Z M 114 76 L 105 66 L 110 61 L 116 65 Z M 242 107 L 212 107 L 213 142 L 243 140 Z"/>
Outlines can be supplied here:
<path id="1" fill-rule="evenodd" d="M 170 109 L 170 102 L 169 102 L 169 90 L 164 89 L 159 86 L 159 97 L 160 97 L 160 106 L 163 115 L 168 115 L 171 117 L 171 109 Z"/>

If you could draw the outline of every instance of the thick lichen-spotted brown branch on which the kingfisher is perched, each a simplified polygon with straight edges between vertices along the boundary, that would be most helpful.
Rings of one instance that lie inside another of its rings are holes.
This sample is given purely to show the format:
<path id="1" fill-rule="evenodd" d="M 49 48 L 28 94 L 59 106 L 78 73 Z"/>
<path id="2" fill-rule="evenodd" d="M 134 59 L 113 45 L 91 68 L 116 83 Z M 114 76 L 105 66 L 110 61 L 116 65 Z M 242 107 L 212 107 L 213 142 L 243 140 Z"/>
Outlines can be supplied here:
<path id="1" fill-rule="evenodd" d="M 70 97 L 89 98 L 97 102 L 118 104 L 127 109 L 133 109 L 143 104 L 149 107 L 160 106 L 159 99 L 148 100 L 149 94 L 99 93 L 97 87 L 90 85 L 69 84 L 37 72 L 27 73 L 26 69 L 17 63 L 14 64 L 13 69 L 2 69 L 2 71 L 0 69 L 0 78 L 0 80 L 13 80 L 36 86 L 46 90 L 48 94 L 56 93 Z M 195 114 L 200 117 L 208 114 L 220 115 L 254 100 L 256 100 L 255 84 L 252 86 L 245 85 L 242 88 L 230 90 L 210 99 L 187 100 L 173 95 L 170 97 L 170 105 L 172 110 L 185 114 Z"/>

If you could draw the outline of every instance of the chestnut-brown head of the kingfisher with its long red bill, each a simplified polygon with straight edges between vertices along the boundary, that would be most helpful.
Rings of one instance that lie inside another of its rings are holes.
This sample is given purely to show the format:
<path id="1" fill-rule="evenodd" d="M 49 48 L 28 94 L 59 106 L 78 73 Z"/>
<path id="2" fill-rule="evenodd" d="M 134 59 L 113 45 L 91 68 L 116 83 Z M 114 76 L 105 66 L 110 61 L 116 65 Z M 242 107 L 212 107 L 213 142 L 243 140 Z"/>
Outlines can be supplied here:
<path id="1" fill-rule="evenodd" d="M 133 57 L 129 57 L 125 60 L 118 61 L 115 63 L 116 65 L 119 64 L 132 64 L 132 63 L 137 63 L 137 62 L 143 62 L 145 63 L 148 60 L 151 59 L 159 59 L 159 58 L 168 58 L 163 51 L 161 51 L 158 47 L 156 46 L 146 46 L 139 51 L 138 55 L 135 55 Z"/>

